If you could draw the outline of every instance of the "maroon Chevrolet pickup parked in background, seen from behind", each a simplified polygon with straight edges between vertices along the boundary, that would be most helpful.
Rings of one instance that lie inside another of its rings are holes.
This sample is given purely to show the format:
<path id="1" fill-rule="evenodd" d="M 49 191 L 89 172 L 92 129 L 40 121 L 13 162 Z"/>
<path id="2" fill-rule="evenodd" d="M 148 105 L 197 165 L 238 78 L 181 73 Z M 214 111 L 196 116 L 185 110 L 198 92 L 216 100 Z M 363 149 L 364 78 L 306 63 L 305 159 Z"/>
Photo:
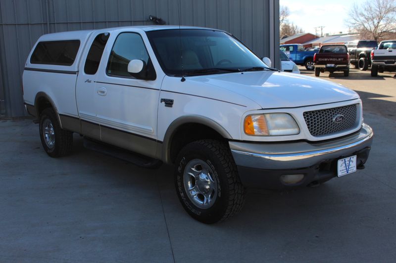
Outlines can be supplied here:
<path id="1" fill-rule="evenodd" d="M 315 76 L 328 71 L 330 74 L 336 71 L 349 75 L 349 55 L 346 45 L 323 45 L 319 52 L 313 56 Z"/>

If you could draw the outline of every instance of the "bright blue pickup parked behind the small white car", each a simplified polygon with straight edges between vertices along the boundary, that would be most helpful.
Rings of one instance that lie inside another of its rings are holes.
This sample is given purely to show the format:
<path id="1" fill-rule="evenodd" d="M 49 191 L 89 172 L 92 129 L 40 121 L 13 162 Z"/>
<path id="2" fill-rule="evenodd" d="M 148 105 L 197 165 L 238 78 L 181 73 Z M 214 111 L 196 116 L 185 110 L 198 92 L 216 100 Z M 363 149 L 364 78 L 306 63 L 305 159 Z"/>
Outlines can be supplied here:
<path id="1" fill-rule="evenodd" d="M 307 70 L 315 69 L 313 65 L 313 55 L 316 54 L 318 50 L 305 51 L 301 44 L 280 45 L 280 48 L 297 65 L 305 66 Z"/>

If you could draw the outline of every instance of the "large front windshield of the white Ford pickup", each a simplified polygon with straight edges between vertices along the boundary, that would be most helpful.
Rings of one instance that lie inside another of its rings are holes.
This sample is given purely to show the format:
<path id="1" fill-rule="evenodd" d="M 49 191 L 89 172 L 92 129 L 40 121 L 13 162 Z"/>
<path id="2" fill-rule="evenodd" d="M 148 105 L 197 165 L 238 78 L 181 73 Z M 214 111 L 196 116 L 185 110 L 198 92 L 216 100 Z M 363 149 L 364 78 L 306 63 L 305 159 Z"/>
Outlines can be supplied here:
<path id="1" fill-rule="evenodd" d="M 149 31 L 146 34 L 166 75 L 204 75 L 268 69 L 245 45 L 221 31 L 171 29 Z"/>

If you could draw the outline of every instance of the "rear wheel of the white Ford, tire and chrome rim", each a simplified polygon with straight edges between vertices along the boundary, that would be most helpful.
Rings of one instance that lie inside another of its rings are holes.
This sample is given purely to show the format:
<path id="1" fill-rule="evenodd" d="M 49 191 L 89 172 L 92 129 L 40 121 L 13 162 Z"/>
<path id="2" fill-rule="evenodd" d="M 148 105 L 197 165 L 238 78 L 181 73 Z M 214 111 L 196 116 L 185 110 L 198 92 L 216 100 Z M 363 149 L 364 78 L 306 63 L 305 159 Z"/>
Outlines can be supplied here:
<path id="1" fill-rule="evenodd" d="M 73 133 L 60 127 L 52 108 L 45 109 L 40 115 L 40 139 L 51 157 L 65 156 L 73 148 Z"/>

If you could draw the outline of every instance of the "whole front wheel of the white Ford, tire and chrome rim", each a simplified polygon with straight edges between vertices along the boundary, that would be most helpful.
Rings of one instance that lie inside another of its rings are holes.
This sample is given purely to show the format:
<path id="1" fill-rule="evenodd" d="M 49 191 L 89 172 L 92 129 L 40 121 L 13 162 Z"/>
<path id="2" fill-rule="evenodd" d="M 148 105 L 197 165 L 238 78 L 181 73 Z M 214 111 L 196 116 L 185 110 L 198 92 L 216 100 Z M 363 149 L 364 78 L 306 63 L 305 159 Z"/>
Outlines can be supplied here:
<path id="1" fill-rule="evenodd" d="M 214 140 L 196 141 L 180 151 L 175 186 L 183 208 L 205 224 L 232 217 L 245 200 L 245 188 L 230 149 Z"/>

